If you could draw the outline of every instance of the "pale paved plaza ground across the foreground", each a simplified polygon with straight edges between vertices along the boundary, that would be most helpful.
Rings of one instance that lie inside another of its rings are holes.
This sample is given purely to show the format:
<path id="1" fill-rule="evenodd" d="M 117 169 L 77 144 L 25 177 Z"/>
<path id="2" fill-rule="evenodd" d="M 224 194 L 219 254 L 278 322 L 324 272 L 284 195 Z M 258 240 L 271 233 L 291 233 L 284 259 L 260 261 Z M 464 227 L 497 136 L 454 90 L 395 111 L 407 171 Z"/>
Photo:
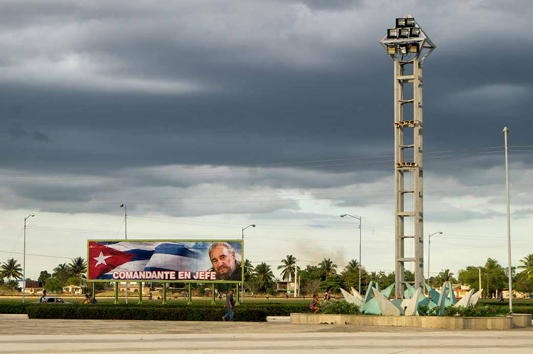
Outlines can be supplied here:
<path id="1" fill-rule="evenodd" d="M 533 328 L 446 331 L 351 325 L 40 320 L 0 315 L 13 353 L 533 353 Z"/>

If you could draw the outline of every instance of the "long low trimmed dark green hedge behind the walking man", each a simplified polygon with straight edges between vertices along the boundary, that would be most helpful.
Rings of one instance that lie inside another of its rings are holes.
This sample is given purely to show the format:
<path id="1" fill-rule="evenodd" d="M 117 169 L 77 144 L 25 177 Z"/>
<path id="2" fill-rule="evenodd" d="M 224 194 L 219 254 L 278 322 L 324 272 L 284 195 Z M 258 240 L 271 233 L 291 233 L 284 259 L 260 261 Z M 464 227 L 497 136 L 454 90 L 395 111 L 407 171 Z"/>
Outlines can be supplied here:
<path id="1" fill-rule="evenodd" d="M 227 312 L 222 307 L 152 307 L 152 306 L 98 306 L 80 304 L 43 304 L 27 308 L 29 318 L 41 319 L 122 319 L 167 321 L 221 321 Z M 236 308 L 236 321 L 264 322 L 265 309 Z"/>

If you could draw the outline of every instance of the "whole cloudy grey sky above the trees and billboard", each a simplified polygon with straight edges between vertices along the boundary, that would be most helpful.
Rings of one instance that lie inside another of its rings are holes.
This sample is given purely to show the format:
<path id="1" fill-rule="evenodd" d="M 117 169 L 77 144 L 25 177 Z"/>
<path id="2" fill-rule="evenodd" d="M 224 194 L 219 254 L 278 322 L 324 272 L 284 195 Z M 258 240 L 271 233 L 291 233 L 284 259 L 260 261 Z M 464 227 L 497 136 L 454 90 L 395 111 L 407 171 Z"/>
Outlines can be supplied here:
<path id="1" fill-rule="evenodd" d="M 88 238 L 239 238 L 273 268 L 394 269 L 393 67 L 412 14 L 424 66 L 431 272 L 533 253 L 528 0 L 0 2 L 0 260 L 27 275 Z M 409 230 L 411 226 L 407 225 Z M 427 246 L 425 248 L 427 251 Z M 407 251 L 407 254 L 412 251 Z M 427 267 L 427 264 L 426 264 Z M 427 271 L 427 268 L 426 268 Z"/>

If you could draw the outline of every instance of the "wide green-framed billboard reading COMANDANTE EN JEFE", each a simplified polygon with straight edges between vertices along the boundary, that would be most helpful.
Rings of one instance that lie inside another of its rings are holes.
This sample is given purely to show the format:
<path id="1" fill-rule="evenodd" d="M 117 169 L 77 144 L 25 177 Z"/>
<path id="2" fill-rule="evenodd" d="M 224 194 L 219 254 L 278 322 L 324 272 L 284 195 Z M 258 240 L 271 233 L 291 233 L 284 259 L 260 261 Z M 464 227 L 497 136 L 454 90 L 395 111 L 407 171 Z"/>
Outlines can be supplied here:
<path id="1" fill-rule="evenodd" d="M 242 240 L 87 240 L 87 280 L 240 283 Z"/>

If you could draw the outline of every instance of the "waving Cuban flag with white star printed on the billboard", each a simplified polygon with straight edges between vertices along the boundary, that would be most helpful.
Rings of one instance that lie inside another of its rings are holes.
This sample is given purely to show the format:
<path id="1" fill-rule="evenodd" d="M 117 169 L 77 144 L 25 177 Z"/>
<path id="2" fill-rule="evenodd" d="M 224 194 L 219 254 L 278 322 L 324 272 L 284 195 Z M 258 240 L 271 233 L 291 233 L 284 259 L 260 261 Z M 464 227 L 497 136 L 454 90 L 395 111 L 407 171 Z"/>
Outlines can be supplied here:
<path id="1" fill-rule="evenodd" d="M 194 242 L 89 242 L 88 279 L 113 279 L 115 271 L 206 270 Z M 207 259 L 208 260 L 208 259 Z M 205 264 L 204 264 L 205 263 Z"/>

